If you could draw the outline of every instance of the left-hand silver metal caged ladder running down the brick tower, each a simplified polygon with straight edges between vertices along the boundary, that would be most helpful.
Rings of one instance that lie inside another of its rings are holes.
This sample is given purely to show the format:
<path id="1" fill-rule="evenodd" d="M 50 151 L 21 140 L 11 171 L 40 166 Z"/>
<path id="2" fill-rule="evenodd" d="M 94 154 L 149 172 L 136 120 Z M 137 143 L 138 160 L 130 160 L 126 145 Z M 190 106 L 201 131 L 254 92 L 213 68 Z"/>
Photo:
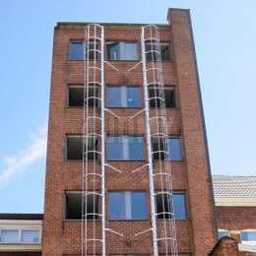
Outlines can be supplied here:
<path id="1" fill-rule="evenodd" d="M 105 256 L 104 28 L 97 24 L 88 25 L 85 45 L 82 256 Z M 89 158 L 92 154 L 94 157 Z M 90 196 L 93 199 L 89 211 Z"/>

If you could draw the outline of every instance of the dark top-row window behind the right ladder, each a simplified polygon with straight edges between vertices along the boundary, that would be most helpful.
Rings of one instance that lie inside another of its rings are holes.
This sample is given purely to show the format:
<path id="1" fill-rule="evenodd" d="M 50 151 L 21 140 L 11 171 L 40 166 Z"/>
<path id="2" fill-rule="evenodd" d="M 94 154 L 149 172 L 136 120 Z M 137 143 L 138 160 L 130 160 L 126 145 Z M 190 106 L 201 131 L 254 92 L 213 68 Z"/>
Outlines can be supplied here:
<path id="1" fill-rule="evenodd" d="M 146 42 L 146 58 L 148 61 L 157 61 L 159 51 L 158 44 Z M 169 42 L 160 42 L 160 56 L 162 61 L 172 61 L 173 50 Z"/>

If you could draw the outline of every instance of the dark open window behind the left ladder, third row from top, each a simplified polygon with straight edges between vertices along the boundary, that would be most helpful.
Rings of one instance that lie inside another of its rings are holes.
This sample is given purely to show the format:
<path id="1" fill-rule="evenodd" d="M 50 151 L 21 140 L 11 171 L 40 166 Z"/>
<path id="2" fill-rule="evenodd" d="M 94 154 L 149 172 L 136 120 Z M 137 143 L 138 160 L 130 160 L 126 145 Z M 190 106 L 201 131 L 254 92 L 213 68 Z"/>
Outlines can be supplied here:
<path id="1" fill-rule="evenodd" d="M 88 137 L 88 160 L 96 160 L 97 140 L 96 136 Z M 86 150 L 86 149 L 85 149 Z M 67 136 L 67 160 L 83 160 L 83 136 Z"/>

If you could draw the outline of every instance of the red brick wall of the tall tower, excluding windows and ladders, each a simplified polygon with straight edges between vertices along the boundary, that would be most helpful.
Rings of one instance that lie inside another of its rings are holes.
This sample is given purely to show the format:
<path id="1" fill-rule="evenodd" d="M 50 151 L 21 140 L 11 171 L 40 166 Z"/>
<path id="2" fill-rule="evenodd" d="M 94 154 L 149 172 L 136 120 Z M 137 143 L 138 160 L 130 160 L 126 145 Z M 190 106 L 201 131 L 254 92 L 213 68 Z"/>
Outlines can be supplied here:
<path id="1" fill-rule="evenodd" d="M 160 29 L 163 41 L 174 44 L 175 60 L 163 64 L 165 85 L 175 85 L 179 107 L 168 110 L 169 133 L 181 135 L 185 160 L 171 163 L 174 190 L 186 191 L 188 197 L 188 220 L 177 221 L 178 249 L 193 252 L 193 255 L 207 255 L 215 243 L 211 180 L 208 174 L 206 145 L 197 88 L 196 67 L 191 48 L 189 14 L 186 11 L 172 11 L 172 26 Z M 84 38 L 83 26 L 55 29 L 50 93 L 50 113 L 47 146 L 47 171 L 45 184 L 45 206 L 43 223 L 43 256 L 60 256 L 81 251 L 81 222 L 63 221 L 63 196 L 65 190 L 82 189 L 82 162 L 65 160 L 66 134 L 80 134 L 83 128 L 83 110 L 66 107 L 67 85 L 84 83 L 83 61 L 68 60 L 70 39 Z M 141 27 L 108 26 L 107 40 L 136 40 L 140 45 Z M 106 66 L 105 84 L 142 86 L 142 69 L 127 72 L 136 62 L 112 61 L 118 67 L 115 72 Z M 122 118 L 118 123 L 106 114 L 105 126 L 108 134 L 145 134 L 144 115 L 128 121 L 134 109 L 115 111 Z M 172 125 L 173 123 L 173 125 Z M 118 129 L 116 128 L 118 126 Z M 146 156 L 146 153 L 145 153 Z M 118 190 L 140 189 L 149 191 L 147 171 L 131 173 L 131 169 L 143 162 L 111 162 L 123 170 L 117 174 L 106 170 L 106 188 Z M 157 186 L 158 189 L 158 186 Z M 106 194 L 107 196 L 107 194 Z M 148 198 L 149 201 L 149 198 Z M 107 206 L 107 197 L 106 197 Z M 106 207 L 107 209 L 107 207 Z M 107 216 L 106 216 L 107 220 Z M 158 222 L 159 224 L 160 221 Z M 152 254 L 151 233 L 134 237 L 133 234 L 150 227 L 144 222 L 108 222 L 110 228 L 124 232 L 125 237 L 107 234 L 107 253 L 149 253 Z M 99 229 L 99 224 L 98 224 Z M 160 246 L 160 251 L 163 247 Z"/>

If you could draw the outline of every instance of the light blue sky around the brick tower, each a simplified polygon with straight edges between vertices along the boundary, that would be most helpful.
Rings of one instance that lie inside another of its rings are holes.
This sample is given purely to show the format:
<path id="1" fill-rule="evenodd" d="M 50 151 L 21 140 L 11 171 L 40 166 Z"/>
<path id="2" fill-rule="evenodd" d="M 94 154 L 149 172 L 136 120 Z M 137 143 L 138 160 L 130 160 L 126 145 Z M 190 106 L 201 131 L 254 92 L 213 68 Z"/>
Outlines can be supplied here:
<path id="1" fill-rule="evenodd" d="M 58 21 L 166 23 L 191 10 L 213 174 L 256 175 L 255 0 L 0 3 L 0 213 L 42 213 L 53 29 Z"/>

